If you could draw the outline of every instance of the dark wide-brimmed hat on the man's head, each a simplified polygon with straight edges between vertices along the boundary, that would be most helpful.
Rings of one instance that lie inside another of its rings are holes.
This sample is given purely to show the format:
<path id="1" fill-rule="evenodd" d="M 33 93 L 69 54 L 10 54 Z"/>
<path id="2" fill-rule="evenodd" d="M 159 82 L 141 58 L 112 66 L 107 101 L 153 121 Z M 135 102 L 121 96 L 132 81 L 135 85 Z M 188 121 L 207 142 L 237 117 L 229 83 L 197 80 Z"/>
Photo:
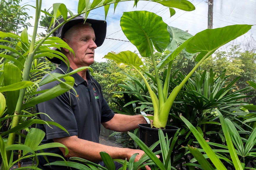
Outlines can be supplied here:
<path id="1" fill-rule="evenodd" d="M 70 16 L 67 17 L 68 19 Z M 55 23 L 54 27 L 58 26 L 60 23 L 64 22 L 64 19 L 61 18 L 58 20 L 58 22 Z M 59 27 L 54 33 L 53 36 L 63 38 L 64 34 L 69 30 L 69 28 L 73 27 L 74 25 L 80 23 L 80 22 L 88 22 L 91 24 L 91 27 L 94 30 L 95 33 L 95 44 L 97 47 L 101 46 L 105 40 L 106 32 L 107 32 L 107 22 L 104 20 L 95 20 L 91 18 L 87 18 L 86 21 L 83 16 L 75 17 L 74 19 L 70 20 L 69 22 L 65 23 L 61 27 Z M 53 48 L 53 50 L 60 51 L 58 48 Z M 61 60 L 53 57 L 52 59 L 48 58 L 53 63 L 60 64 Z"/>

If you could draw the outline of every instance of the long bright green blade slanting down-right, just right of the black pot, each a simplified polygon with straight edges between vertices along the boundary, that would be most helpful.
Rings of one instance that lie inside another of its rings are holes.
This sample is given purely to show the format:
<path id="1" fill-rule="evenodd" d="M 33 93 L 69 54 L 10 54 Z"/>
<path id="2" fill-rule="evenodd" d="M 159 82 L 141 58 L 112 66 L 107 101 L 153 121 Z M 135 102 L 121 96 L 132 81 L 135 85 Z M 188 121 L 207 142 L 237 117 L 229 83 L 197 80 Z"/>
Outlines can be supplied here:
<path id="1" fill-rule="evenodd" d="M 197 129 L 183 116 L 180 116 L 181 120 L 187 125 L 187 127 L 190 129 L 190 131 L 193 133 L 197 141 L 199 142 L 200 146 L 203 148 L 205 153 L 209 156 L 212 163 L 217 169 L 227 169 L 222 164 L 222 162 L 219 160 L 217 155 L 214 153 L 214 151 L 211 149 L 211 147 L 208 145 L 208 143 L 205 141 L 205 139 L 202 137 L 202 135 L 197 131 Z"/>

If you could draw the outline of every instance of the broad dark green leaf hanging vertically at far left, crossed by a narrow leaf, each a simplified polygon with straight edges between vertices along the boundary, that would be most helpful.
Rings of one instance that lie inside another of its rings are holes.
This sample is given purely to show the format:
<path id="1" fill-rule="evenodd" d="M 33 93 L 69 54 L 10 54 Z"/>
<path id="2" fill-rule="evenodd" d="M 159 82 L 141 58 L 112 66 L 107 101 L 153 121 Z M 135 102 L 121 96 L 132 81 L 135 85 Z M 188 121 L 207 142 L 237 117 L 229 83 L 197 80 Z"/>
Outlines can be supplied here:
<path id="1" fill-rule="evenodd" d="M 13 76 L 15 75 L 15 76 Z M 20 82 L 22 79 L 20 69 L 12 63 L 4 64 L 4 85 L 12 85 Z M 19 98 L 20 90 L 6 91 L 6 105 L 8 113 L 12 114 L 15 111 L 16 104 Z"/>

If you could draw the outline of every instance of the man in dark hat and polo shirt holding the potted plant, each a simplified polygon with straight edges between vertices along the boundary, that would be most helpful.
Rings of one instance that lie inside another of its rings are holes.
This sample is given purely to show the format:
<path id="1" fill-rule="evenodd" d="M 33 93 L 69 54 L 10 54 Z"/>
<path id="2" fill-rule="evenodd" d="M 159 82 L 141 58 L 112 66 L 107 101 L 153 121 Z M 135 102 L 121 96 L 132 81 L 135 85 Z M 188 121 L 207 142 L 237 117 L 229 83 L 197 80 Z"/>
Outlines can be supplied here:
<path id="1" fill-rule="evenodd" d="M 60 19 L 59 22 L 63 22 Z M 56 23 L 58 25 L 58 23 Z M 106 35 L 106 22 L 102 20 L 87 19 L 84 23 L 82 16 L 65 23 L 53 34 L 63 39 L 75 52 L 66 48 L 61 52 L 67 56 L 70 63 L 69 72 L 83 66 L 90 66 L 94 63 L 94 50 L 101 46 Z M 57 49 L 56 49 L 57 50 Z M 61 64 L 53 72 L 66 73 L 68 68 L 58 58 L 49 59 L 54 63 Z M 46 135 L 42 143 L 59 142 L 64 144 L 69 153 L 66 158 L 80 157 L 89 161 L 101 161 L 99 152 L 105 151 L 112 158 L 129 158 L 134 153 L 139 153 L 135 159 L 138 161 L 144 154 L 142 150 L 129 148 L 116 148 L 99 144 L 100 124 L 105 128 L 118 132 L 125 132 L 138 128 L 138 124 L 146 123 L 142 115 L 128 116 L 114 114 L 103 98 L 99 83 L 91 77 L 87 70 L 83 70 L 72 75 L 75 79 L 74 88 L 79 97 L 75 96 L 73 90 L 60 95 L 52 100 L 40 103 L 36 106 L 37 112 L 48 114 L 55 122 L 61 124 L 69 135 L 61 129 L 52 126 L 39 124 L 39 128 L 44 130 Z M 59 82 L 54 81 L 43 85 L 40 90 L 54 87 Z M 50 121 L 41 114 L 40 119 Z M 64 148 L 49 148 L 45 152 L 64 155 Z M 61 160 L 58 157 L 48 157 L 49 162 Z M 39 156 L 39 168 L 41 169 L 64 169 L 64 166 L 43 166 L 47 162 L 45 158 Z M 116 166 L 116 169 L 119 167 Z M 147 169 L 150 169 L 147 166 Z"/>

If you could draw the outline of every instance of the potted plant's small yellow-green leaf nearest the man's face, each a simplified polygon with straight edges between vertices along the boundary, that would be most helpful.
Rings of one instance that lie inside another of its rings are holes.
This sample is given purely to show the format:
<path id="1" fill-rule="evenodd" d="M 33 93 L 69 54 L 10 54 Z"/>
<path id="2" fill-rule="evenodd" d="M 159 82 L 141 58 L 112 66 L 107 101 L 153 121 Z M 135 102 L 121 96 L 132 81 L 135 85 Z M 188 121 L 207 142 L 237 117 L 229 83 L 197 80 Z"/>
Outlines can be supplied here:
<path id="1" fill-rule="evenodd" d="M 138 69 L 140 69 L 140 66 L 143 65 L 140 57 L 132 51 L 122 51 L 118 54 L 109 52 L 104 56 L 104 58 L 114 60 L 117 64 L 123 63 L 126 65 L 134 66 Z"/>

